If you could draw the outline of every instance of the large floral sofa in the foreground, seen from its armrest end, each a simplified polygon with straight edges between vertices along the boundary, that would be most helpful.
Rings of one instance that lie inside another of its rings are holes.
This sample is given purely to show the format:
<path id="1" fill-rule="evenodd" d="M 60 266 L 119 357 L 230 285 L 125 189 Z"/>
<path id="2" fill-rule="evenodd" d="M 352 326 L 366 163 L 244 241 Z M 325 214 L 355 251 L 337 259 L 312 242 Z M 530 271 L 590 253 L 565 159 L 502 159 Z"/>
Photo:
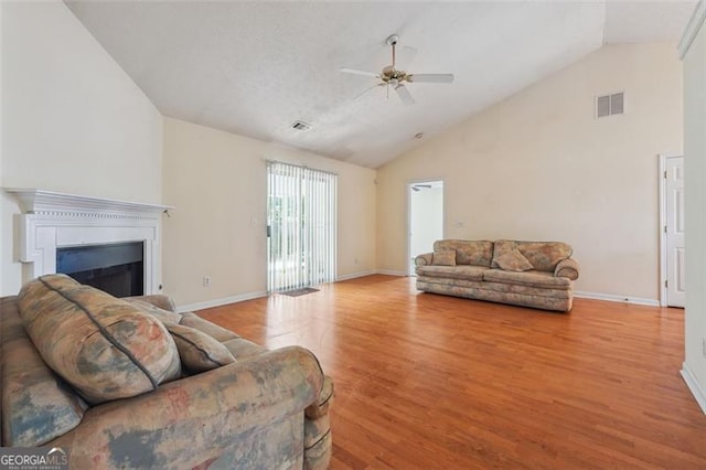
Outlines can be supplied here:
<path id="1" fill-rule="evenodd" d="M 165 296 L 116 299 L 63 275 L 0 299 L 4 447 L 72 468 L 308 468 L 331 455 L 333 384 Z"/>

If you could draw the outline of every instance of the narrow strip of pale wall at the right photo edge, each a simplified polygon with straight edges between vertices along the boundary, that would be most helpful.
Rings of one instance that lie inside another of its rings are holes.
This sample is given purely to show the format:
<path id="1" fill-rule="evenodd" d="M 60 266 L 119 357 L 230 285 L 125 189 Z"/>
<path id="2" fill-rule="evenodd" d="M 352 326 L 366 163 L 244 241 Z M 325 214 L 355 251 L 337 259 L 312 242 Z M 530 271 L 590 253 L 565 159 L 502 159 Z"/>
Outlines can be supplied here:
<path id="1" fill-rule="evenodd" d="M 706 413 L 706 26 L 684 57 L 686 318 L 684 373 Z"/>

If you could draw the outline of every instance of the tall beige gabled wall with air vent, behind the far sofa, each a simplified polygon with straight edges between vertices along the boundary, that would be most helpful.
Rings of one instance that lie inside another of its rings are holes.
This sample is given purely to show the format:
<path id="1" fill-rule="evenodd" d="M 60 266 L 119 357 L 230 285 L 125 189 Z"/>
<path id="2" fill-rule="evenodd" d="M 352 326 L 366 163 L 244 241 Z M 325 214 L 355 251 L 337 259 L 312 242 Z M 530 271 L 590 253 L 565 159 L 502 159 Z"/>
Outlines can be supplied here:
<path id="1" fill-rule="evenodd" d="M 625 114 L 593 97 L 625 92 Z M 558 239 L 579 291 L 659 298 L 657 154 L 682 152 L 673 44 L 609 45 L 378 171 L 378 268 L 404 271 L 405 184 L 443 179 L 446 237 Z"/>

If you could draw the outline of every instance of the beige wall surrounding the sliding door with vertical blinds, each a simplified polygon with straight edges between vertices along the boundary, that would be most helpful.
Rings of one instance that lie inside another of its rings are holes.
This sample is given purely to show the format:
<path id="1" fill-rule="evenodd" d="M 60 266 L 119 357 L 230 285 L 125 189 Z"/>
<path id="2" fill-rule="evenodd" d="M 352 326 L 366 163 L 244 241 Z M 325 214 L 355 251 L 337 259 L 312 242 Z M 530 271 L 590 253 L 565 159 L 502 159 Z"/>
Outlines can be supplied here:
<path id="1" fill-rule="evenodd" d="M 162 266 L 178 305 L 265 292 L 266 159 L 339 174 L 338 275 L 375 269 L 375 171 L 168 118 L 164 204 L 175 210 L 163 224 Z"/>

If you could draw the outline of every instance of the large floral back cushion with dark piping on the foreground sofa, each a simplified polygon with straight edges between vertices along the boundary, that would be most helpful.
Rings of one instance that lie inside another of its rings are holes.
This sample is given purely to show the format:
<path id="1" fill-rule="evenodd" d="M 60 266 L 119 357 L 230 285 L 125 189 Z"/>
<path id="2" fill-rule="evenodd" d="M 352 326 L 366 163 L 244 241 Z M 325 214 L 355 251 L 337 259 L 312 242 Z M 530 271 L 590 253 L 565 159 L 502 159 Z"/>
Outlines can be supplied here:
<path id="1" fill-rule="evenodd" d="M 19 307 L 46 364 L 89 404 L 139 395 L 181 375 L 164 325 L 101 290 L 42 276 L 22 287 Z"/>

